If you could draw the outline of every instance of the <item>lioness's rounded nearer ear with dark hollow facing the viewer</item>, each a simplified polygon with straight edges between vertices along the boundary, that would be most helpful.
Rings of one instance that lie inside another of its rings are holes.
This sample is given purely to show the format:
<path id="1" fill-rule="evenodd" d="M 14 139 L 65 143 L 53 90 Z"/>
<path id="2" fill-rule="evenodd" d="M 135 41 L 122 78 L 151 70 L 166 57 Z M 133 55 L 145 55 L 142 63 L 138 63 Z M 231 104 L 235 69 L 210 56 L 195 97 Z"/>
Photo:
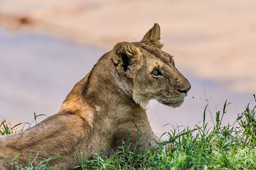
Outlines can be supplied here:
<path id="1" fill-rule="evenodd" d="M 140 50 L 128 42 L 117 43 L 111 53 L 113 62 L 121 64 L 124 71 L 127 71 L 128 66 L 136 64 L 141 55 Z"/>

